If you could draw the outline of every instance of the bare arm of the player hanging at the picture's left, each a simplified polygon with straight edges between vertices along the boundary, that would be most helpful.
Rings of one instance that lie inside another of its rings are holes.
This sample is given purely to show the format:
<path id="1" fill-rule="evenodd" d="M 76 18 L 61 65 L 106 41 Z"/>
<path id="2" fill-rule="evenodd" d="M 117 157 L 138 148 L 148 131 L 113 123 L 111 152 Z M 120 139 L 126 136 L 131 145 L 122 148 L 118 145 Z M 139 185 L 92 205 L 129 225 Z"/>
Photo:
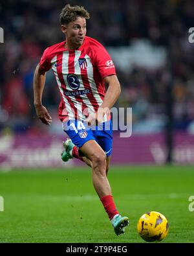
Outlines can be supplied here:
<path id="1" fill-rule="evenodd" d="M 39 64 L 34 72 L 34 106 L 36 108 L 36 114 L 44 124 L 50 124 L 52 118 L 50 117 L 47 108 L 42 105 L 43 89 L 45 87 L 46 72 L 41 69 Z"/>

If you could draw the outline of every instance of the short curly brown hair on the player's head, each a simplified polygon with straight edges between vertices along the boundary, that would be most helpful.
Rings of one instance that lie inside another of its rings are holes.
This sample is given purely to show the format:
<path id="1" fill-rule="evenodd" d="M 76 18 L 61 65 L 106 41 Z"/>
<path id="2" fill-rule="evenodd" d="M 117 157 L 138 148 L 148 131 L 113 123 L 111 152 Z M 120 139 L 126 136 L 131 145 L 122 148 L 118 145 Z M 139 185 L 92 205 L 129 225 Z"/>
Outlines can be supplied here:
<path id="1" fill-rule="evenodd" d="M 84 17 L 85 19 L 89 19 L 90 14 L 87 12 L 87 10 L 85 10 L 83 6 L 70 6 L 68 4 L 65 5 L 59 15 L 61 25 L 67 25 L 71 21 L 75 21 L 77 17 Z"/>

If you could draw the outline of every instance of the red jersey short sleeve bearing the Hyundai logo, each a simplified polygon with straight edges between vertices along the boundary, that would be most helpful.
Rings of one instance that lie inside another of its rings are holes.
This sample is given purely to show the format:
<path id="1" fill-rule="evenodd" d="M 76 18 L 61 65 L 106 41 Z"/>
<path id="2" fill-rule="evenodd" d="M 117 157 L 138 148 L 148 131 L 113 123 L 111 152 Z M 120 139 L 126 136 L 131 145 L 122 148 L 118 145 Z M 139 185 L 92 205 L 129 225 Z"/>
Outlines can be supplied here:
<path id="1" fill-rule="evenodd" d="M 102 78 L 109 75 L 116 75 L 113 60 L 111 60 L 109 53 L 101 44 L 98 45 L 94 55 L 96 67 Z"/>

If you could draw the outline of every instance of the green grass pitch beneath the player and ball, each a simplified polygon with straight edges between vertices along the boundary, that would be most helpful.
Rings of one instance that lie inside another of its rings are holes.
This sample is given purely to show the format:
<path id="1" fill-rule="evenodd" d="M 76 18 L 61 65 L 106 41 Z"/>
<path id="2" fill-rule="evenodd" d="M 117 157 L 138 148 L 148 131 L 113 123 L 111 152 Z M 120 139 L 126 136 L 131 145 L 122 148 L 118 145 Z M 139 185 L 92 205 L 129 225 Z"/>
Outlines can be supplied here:
<path id="1" fill-rule="evenodd" d="M 169 220 L 162 242 L 194 242 L 193 167 L 111 167 L 114 202 L 129 216 L 116 237 L 91 181 L 89 168 L 0 172 L 0 242 L 145 242 L 138 218 L 159 211 Z"/>

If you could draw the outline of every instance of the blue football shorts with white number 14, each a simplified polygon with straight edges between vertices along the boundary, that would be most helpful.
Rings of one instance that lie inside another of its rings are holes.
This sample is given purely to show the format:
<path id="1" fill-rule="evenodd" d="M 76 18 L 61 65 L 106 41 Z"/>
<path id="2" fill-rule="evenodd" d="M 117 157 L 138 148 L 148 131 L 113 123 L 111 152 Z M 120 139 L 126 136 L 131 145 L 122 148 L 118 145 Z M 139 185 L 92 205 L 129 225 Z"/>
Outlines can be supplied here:
<path id="1" fill-rule="evenodd" d="M 102 122 L 98 126 L 87 126 L 84 121 L 75 119 L 63 122 L 62 127 L 72 143 L 79 148 L 87 141 L 94 140 L 101 146 L 106 156 L 111 156 L 113 150 L 113 124 L 111 120 Z"/>

